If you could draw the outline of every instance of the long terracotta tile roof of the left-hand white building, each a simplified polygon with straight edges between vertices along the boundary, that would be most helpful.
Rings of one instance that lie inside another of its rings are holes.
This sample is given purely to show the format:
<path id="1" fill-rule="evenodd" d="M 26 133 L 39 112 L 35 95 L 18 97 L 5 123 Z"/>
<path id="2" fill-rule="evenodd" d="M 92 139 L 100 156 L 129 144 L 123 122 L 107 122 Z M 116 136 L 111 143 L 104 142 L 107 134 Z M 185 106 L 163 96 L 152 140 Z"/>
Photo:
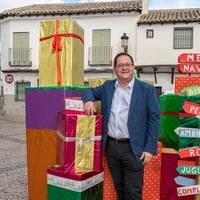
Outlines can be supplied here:
<path id="1" fill-rule="evenodd" d="M 62 15 L 62 14 L 87 14 L 104 12 L 141 12 L 141 0 L 114 1 L 114 2 L 91 2 L 91 3 L 62 3 L 62 4 L 34 4 L 5 10 L 0 17 L 8 16 L 32 16 L 32 15 Z"/>

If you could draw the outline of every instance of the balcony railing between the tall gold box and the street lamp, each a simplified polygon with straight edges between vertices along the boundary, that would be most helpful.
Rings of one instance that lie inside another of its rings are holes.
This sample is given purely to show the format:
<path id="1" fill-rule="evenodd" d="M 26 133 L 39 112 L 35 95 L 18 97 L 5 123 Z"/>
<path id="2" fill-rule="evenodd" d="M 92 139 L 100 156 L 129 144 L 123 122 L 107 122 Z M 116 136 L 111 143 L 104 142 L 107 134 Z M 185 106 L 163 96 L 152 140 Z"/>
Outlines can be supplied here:
<path id="1" fill-rule="evenodd" d="M 112 47 L 89 47 L 88 64 L 90 66 L 111 66 L 112 65 Z"/>

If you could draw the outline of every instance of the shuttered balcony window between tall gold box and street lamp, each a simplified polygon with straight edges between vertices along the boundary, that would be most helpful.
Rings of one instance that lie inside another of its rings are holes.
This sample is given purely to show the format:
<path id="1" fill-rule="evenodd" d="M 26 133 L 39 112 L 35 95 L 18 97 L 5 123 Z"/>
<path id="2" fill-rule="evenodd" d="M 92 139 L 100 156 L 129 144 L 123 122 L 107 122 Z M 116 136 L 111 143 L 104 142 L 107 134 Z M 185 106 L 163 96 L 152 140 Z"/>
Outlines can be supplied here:
<path id="1" fill-rule="evenodd" d="M 112 65 L 111 53 L 111 30 L 93 30 L 89 65 Z"/>

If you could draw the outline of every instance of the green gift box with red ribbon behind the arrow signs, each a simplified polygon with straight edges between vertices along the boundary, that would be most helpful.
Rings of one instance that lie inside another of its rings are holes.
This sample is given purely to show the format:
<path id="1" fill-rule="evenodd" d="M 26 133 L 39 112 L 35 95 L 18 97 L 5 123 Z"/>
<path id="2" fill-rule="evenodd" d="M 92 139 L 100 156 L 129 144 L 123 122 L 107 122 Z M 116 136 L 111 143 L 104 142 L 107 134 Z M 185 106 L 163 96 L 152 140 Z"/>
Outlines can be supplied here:
<path id="1" fill-rule="evenodd" d="M 164 147 L 176 150 L 199 145 L 199 139 L 179 138 L 175 133 L 178 127 L 198 128 L 199 119 L 183 110 L 185 101 L 200 103 L 199 96 L 187 97 L 182 94 L 164 94 L 160 96 L 159 141 Z"/>

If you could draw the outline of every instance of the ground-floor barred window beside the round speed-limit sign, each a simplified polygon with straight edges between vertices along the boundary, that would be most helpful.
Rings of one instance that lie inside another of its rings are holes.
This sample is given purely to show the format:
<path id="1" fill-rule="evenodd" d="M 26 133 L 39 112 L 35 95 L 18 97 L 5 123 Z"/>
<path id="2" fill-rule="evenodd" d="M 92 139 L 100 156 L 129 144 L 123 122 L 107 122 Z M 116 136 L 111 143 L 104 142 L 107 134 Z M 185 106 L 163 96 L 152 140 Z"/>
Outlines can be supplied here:
<path id="1" fill-rule="evenodd" d="M 15 100 L 25 101 L 25 88 L 31 87 L 31 82 L 29 81 L 17 81 L 15 83 Z"/>

